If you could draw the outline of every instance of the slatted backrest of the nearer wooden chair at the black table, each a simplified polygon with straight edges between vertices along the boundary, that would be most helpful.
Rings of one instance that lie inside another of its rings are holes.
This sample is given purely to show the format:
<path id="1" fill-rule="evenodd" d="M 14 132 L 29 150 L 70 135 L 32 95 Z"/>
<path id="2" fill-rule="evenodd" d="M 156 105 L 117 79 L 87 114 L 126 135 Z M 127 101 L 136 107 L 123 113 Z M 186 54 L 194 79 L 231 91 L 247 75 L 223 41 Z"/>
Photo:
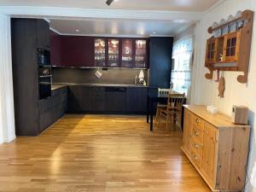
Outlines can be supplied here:
<path id="1" fill-rule="evenodd" d="M 185 94 L 170 93 L 168 95 L 167 109 L 181 109 L 185 100 Z"/>

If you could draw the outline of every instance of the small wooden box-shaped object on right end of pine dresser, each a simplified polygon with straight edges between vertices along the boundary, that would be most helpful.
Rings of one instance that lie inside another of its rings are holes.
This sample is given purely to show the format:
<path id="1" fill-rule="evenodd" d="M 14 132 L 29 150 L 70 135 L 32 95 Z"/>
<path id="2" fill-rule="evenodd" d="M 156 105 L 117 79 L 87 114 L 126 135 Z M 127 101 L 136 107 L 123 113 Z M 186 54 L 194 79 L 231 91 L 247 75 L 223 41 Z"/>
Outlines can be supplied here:
<path id="1" fill-rule="evenodd" d="M 249 110 L 247 107 L 236 106 L 232 108 L 232 122 L 234 124 L 247 125 Z"/>

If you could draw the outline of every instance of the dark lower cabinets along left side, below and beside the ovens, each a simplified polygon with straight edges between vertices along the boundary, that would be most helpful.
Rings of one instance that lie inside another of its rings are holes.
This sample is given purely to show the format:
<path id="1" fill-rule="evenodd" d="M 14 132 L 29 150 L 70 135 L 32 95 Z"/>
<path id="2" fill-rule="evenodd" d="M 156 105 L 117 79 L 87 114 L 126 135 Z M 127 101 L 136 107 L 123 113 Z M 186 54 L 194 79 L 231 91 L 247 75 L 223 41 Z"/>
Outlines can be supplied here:
<path id="1" fill-rule="evenodd" d="M 52 91 L 52 96 L 39 102 L 39 131 L 42 132 L 67 112 L 67 87 Z"/>

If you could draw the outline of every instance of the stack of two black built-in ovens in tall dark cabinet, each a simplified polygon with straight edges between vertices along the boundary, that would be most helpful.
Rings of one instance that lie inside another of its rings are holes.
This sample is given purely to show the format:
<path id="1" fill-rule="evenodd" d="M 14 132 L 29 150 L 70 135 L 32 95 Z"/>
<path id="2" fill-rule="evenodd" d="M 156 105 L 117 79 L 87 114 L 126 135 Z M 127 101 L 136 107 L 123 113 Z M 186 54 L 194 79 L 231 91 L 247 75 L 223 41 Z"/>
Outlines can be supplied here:
<path id="1" fill-rule="evenodd" d="M 39 99 L 51 96 L 52 74 L 49 58 L 49 50 L 38 49 L 38 84 Z"/>

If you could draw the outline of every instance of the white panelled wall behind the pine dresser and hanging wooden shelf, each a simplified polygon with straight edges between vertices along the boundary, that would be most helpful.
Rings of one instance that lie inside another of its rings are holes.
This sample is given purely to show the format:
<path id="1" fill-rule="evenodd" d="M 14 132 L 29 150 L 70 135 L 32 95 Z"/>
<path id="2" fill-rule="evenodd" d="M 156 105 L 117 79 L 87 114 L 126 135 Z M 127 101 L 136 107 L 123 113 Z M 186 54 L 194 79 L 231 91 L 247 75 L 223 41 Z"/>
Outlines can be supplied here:
<path id="1" fill-rule="evenodd" d="M 245 105 L 250 108 L 250 125 L 252 125 L 252 139 L 251 139 L 251 153 L 248 165 L 248 174 L 252 171 L 253 161 L 256 157 L 256 149 L 254 147 L 255 137 L 254 132 L 256 125 L 254 125 L 256 113 L 256 18 L 253 24 L 253 44 L 251 51 L 251 61 L 249 67 L 249 75 L 247 84 L 240 84 L 236 78 L 237 72 L 225 72 L 224 77 L 226 81 L 226 90 L 224 98 L 218 98 L 218 83 L 205 79 L 205 73 L 208 72 L 204 67 L 207 28 L 212 26 L 214 21 L 219 22 L 222 18 L 227 19 L 229 15 L 236 15 L 238 10 L 251 9 L 256 12 L 256 0 L 226 0 L 220 3 L 217 7 L 208 11 L 204 15 L 201 23 L 196 25 L 196 55 L 195 66 L 192 84 L 195 86 L 195 92 L 192 94 L 191 101 L 196 104 L 215 105 L 220 112 L 230 115 L 232 105 Z M 253 191 L 250 183 L 247 183 L 247 192 Z M 256 189 L 254 189 L 256 191 Z"/>

